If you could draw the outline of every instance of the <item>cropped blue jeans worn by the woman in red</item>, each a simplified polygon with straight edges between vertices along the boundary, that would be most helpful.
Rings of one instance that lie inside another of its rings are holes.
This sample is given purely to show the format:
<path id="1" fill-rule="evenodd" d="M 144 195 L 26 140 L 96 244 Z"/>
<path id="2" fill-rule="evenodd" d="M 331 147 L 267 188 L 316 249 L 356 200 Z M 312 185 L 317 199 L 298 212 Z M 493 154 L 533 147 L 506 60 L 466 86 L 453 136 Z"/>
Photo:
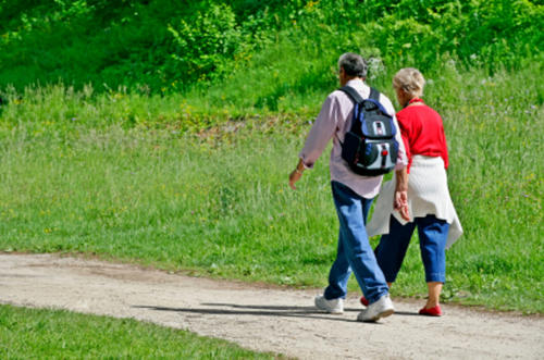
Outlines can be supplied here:
<path id="1" fill-rule="evenodd" d="M 418 226 L 419 248 L 425 268 L 425 281 L 446 281 L 446 239 L 449 224 L 434 215 L 415 218 L 413 222 L 401 225 L 394 216 L 390 220 L 390 234 L 383 235 L 375 248 L 378 263 L 387 280 L 395 282 L 413 229 Z"/>

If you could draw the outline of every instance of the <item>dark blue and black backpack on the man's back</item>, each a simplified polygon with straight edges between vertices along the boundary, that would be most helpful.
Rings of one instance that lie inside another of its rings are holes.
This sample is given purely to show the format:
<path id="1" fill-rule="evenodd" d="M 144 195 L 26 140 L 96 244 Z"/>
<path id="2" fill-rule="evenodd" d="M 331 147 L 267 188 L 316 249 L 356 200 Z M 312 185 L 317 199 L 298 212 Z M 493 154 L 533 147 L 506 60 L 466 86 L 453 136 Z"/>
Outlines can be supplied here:
<path id="1" fill-rule="evenodd" d="M 397 162 L 397 128 L 393 117 L 380 103 L 380 92 L 370 88 L 370 97 L 362 99 L 353 87 L 344 86 L 344 91 L 354 101 L 351 128 L 344 137 L 342 158 L 349 169 L 363 176 L 378 176 L 391 172 Z"/>

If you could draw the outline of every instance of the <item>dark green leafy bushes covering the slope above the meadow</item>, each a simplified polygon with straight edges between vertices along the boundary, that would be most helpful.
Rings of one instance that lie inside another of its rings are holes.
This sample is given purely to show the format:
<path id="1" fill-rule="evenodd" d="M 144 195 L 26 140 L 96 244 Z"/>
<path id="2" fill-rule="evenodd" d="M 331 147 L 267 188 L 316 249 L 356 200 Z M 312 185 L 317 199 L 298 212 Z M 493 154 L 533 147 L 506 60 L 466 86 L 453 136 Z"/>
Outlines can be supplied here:
<path id="1" fill-rule="evenodd" d="M 493 73 L 542 52 L 543 14 L 527 0 L 3 1 L 0 86 L 61 79 L 186 94 L 199 83 L 201 91 L 259 67 L 255 58 L 287 39 L 314 47 L 314 71 L 333 54 L 372 49 L 388 65 L 430 71 L 453 59 Z"/>

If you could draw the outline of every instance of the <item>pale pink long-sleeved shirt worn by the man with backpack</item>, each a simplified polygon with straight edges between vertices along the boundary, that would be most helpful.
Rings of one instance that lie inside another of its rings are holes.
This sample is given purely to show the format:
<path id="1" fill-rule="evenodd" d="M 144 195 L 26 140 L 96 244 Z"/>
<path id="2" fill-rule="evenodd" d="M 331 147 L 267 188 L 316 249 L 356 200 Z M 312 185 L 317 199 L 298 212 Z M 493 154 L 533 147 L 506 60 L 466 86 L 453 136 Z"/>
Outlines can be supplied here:
<path id="1" fill-rule="evenodd" d="M 351 79 L 346 85 L 355 88 L 367 99 L 370 96 L 370 87 L 361 79 Z M 398 159 L 395 170 L 404 169 L 408 161 L 400 136 L 400 127 L 398 127 L 395 117 L 395 109 L 391 100 L 380 92 L 380 102 L 385 110 L 393 116 L 395 126 L 397 127 L 396 139 L 398 141 Z M 313 167 L 314 162 L 321 156 L 331 138 L 333 139 L 333 149 L 331 151 L 330 170 L 331 181 L 336 181 L 349 187 L 363 198 L 374 198 L 380 191 L 383 176 L 361 176 L 349 170 L 348 164 L 342 159 L 342 145 L 344 136 L 351 126 L 351 117 L 354 116 L 354 102 L 351 99 L 341 90 L 331 92 L 326 98 L 321 111 L 316 119 L 316 123 L 310 129 L 306 139 L 305 147 L 300 151 L 300 159 L 306 167 Z"/>

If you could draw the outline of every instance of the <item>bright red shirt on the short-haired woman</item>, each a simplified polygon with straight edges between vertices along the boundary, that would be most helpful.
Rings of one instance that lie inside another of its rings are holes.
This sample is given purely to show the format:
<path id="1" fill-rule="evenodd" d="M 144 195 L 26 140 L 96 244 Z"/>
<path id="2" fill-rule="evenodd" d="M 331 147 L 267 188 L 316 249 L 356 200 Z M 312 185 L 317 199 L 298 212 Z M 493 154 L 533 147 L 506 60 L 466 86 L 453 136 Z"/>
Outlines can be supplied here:
<path id="1" fill-rule="evenodd" d="M 408 156 L 408 173 L 416 154 L 441 157 L 447 169 L 446 135 L 442 117 L 436 111 L 425 104 L 407 107 L 397 112 L 397 122 Z"/>

